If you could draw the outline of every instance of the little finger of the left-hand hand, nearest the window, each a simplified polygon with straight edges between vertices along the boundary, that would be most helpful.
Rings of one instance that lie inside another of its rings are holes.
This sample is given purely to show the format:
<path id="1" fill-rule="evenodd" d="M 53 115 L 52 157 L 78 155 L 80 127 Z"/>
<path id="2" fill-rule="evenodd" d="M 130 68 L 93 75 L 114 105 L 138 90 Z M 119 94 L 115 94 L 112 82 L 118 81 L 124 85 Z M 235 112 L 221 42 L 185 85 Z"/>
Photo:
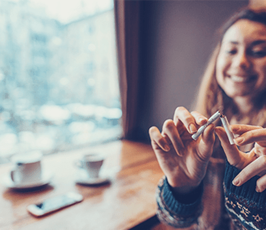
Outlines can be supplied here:
<path id="1" fill-rule="evenodd" d="M 149 136 L 151 139 L 151 145 L 153 149 L 162 148 L 164 151 L 169 151 L 170 146 L 165 137 L 162 136 L 159 129 L 155 126 L 149 128 Z"/>

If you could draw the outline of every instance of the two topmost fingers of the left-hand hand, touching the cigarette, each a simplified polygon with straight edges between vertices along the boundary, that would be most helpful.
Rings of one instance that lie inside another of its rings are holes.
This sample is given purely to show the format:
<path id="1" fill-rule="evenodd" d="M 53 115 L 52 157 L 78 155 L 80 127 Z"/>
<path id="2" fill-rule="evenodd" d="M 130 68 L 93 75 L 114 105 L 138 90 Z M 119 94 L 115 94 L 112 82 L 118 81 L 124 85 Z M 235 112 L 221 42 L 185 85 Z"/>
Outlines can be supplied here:
<path id="1" fill-rule="evenodd" d="M 174 123 L 178 125 L 180 121 L 184 124 L 189 133 L 193 134 L 197 131 L 197 125 L 202 125 L 207 122 L 207 119 L 197 113 L 190 113 L 184 107 L 177 107 L 174 114 Z"/>

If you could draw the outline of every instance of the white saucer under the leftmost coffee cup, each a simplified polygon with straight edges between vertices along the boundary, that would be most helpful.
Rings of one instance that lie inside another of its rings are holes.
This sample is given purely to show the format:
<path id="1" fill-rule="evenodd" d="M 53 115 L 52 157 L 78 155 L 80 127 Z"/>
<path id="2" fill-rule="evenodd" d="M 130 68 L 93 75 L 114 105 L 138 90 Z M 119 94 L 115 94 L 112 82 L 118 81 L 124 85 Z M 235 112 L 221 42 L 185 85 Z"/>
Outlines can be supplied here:
<path id="1" fill-rule="evenodd" d="M 9 173 L 3 176 L 2 184 L 4 184 L 7 188 L 12 188 L 12 189 L 37 188 L 49 184 L 53 176 L 54 175 L 51 172 L 43 172 L 41 181 L 33 183 L 15 183 L 14 181 L 12 181 Z"/>

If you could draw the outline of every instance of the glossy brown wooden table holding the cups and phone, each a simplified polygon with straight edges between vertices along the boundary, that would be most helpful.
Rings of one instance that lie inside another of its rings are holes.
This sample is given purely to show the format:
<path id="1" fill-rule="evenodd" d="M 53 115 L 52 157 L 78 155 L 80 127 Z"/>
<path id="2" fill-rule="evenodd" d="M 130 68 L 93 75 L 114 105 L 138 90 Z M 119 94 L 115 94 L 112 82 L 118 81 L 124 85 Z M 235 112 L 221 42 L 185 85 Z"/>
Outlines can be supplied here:
<path id="1" fill-rule="evenodd" d="M 97 151 L 107 156 L 105 172 L 113 172 L 112 182 L 101 186 L 75 183 L 74 162 L 82 155 Z M 0 175 L 12 165 L 0 165 Z M 155 215 L 155 189 L 163 176 L 150 145 L 114 141 L 94 147 L 45 156 L 44 170 L 54 173 L 50 185 L 42 190 L 19 192 L 0 184 L 0 229 L 130 229 Z M 107 171 L 106 171 L 107 170 Z M 33 217 L 27 205 L 75 191 L 84 200 L 44 217 Z"/>

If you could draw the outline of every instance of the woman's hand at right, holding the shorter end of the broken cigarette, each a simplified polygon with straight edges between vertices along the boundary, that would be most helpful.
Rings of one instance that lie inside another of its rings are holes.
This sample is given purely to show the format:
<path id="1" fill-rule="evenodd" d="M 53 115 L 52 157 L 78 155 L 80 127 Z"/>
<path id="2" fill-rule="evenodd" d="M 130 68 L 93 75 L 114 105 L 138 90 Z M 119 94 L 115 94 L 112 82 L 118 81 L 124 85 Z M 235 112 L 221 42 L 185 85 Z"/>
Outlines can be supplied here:
<path id="1" fill-rule="evenodd" d="M 239 134 L 234 139 L 237 145 L 243 146 L 255 142 L 249 152 L 240 151 L 236 144 L 230 144 L 223 127 L 215 128 L 229 164 L 241 170 L 234 178 L 233 184 L 241 186 L 258 175 L 260 178 L 256 182 L 256 191 L 264 191 L 266 189 L 266 128 L 252 125 L 231 125 L 230 128 L 233 133 Z"/>

